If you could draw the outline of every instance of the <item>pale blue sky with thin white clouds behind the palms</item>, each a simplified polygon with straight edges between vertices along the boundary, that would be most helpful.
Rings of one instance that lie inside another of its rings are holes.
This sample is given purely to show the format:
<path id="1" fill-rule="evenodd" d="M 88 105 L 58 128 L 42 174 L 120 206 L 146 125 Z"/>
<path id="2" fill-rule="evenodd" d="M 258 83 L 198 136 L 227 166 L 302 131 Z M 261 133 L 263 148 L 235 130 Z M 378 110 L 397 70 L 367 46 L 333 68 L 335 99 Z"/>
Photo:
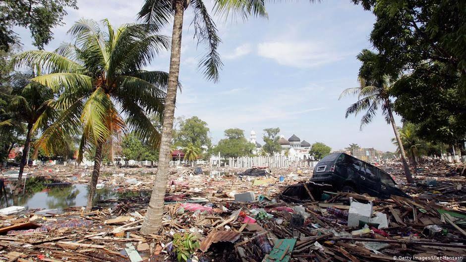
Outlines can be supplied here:
<path id="1" fill-rule="evenodd" d="M 47 50 L 69 42 L 66 31 L 81 17 L 109 18 L 119 25 L 135 21 L 143 0 L 78 0 L 69 10 L 66 25 L 54 29 Z M 357 86 L 360 63 L 355 56 L 371 48 L 368 36 L 374 16 L 350 0 L 284 1 L 268 5 L 269 19 L 218 18 L 224 62 L 219 83 L 206 81 L 197 68 L 205 49 L 193 40 L 192 14 L 185 15 L 176 116 L 197 115 L 206 121 L 214 143 L 227 128 L 241 128 L 246 137 L 254 129 L 280 127 L 285 137 L 323 142 L 332 149 L 350 143 L 393 151 L 391 126 L 378 117 L 359 131 L 359 117 L 345 119 L 354 97 L 338 100 L 340 93 Z M 30 33 L 16 30 L 23 49 L 30 50 Z M 171 26 L 162 32 L 171 35 Z M 148 69 L 169 68 L 163 52 Z M 259 139 L 259 142 L 262 142 Z"/>

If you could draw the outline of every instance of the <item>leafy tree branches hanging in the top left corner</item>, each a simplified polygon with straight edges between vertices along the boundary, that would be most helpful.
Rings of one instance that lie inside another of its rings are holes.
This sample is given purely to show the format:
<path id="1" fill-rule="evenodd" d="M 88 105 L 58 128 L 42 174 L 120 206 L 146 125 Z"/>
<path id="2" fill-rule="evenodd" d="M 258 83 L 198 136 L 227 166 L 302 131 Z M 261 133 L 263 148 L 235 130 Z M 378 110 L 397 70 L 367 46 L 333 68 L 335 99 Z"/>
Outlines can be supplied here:
<path id="1" fill-rule="evenodd" d="M 1 0 L 0 49 L 7 51 L 18 43 L 15 26 L 29 28 L 33 44 L 44 49 L 53 39 L 52 28 L 64 24 L 67 7 L 77 9 L 76 0 Z"/>

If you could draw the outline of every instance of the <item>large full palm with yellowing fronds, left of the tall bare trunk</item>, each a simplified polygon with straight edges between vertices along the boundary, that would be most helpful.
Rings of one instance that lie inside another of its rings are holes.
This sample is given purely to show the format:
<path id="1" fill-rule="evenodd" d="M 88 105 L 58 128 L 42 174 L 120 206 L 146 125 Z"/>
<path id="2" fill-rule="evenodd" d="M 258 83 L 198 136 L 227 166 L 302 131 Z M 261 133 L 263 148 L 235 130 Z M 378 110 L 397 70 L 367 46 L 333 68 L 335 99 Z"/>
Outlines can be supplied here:
<path id="1" fill-rule="evenodd" d="M 55 52 L 28 51 L 14 58 L 17 66 L 40 63 L 49 73 L 31 79 L 59 92 L 56 108 L 63 112 L 45 130 L 37 145 L 47 154 L 75 134 L 82 133 L 78 162 L 83 152 L 95 150 L 87 209 L 92 208 L 104 145 L 111 144 L 126 128 L 155 148 L 160 134 L 147 115 L 163 112 L 168 74 L 141 70 L 161 49 L 167 38 L 157 27 L 125 24 L 105 29 L 94 20 L 80 19 L 68 31 L 73 44 Z M 123 120 L 122 116 L 126 119 Z"/>

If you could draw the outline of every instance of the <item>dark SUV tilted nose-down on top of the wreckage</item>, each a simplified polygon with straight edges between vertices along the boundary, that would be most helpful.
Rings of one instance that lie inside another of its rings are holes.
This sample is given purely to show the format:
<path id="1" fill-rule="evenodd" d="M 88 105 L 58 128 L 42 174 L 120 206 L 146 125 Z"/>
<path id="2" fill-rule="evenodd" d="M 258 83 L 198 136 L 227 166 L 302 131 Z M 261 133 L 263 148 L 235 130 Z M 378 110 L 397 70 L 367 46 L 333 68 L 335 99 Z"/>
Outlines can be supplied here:
<path id="1" fill-rule="evenodd" d="M 311 182 L 330 184 L 338 191 L 367 193 L 373 197 L 408 197 L 392 177 L 380 168 L 344 153 L 330 154 L 314 167 Z"/>

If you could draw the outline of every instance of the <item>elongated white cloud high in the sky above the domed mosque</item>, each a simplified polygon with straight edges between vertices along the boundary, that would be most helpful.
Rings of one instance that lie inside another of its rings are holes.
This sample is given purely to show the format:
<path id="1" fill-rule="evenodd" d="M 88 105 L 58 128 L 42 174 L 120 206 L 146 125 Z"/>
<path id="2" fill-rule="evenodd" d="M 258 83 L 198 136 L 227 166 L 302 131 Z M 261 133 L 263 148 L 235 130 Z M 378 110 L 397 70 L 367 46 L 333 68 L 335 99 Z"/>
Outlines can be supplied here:
<path id="1" fill-rule="evenodd" d="M 315 67 L 345 57 L 342 53 L 329 50 L 325 43 L 312 41 L 263 42 L 257 45 L 257 52 L 279 64 L 298 68 Z"/>

